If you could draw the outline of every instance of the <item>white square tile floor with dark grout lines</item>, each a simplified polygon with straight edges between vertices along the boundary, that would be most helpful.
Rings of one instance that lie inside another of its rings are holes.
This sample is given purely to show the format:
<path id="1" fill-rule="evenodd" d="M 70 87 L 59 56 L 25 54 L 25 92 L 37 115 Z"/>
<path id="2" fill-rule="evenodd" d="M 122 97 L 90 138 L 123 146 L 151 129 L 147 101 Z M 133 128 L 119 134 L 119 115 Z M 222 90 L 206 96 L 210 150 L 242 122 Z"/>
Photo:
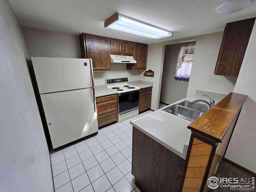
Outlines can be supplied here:
<path id="1" fill-rule="evenodd" d="M 96 136 L 52 153 L 56 192 L 140 192 L 132 169 L 132 125 L 130 121 L 100 128 Z"/>

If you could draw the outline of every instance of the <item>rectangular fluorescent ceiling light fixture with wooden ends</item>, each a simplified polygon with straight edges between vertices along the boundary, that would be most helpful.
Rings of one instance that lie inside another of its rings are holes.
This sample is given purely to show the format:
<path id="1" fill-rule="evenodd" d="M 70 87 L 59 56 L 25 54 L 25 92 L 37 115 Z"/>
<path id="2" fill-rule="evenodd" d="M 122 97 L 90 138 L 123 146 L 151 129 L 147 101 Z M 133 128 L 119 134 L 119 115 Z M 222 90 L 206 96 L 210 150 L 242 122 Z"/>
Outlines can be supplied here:
<path id="1" fill-rule="evenodd" d="M 172 32 L 170 31 L 160 29 L 158 27 L 120 15 L 118 13 L 108 18 L 104 22 L 104 27 L 153 39 L 160 39 L 172 36 Z"/>

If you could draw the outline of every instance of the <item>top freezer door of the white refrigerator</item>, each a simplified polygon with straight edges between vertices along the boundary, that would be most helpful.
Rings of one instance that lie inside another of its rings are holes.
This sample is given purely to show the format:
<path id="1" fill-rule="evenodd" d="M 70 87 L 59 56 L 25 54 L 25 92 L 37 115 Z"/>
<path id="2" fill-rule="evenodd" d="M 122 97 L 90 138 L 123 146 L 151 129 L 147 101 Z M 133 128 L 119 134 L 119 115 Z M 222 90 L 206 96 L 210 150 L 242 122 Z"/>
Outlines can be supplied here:
<path id="1" fill-rule="evenodd" d="M 91 59 L 31 59 L 40 94 L 92 87 Z"/>

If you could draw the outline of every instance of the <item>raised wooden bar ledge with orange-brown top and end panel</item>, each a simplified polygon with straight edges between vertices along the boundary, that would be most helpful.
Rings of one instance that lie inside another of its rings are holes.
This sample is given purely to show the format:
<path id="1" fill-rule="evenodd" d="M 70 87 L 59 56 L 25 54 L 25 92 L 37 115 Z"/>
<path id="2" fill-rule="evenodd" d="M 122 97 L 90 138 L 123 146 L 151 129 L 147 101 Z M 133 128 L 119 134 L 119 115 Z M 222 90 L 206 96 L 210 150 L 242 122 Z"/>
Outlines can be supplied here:
<path id="1" fill-rule="evenodd" d="M 246 95 L 230 93 L 188 125 L 191 130 L 182 192 L 208 192 L 224 157 Z"/>

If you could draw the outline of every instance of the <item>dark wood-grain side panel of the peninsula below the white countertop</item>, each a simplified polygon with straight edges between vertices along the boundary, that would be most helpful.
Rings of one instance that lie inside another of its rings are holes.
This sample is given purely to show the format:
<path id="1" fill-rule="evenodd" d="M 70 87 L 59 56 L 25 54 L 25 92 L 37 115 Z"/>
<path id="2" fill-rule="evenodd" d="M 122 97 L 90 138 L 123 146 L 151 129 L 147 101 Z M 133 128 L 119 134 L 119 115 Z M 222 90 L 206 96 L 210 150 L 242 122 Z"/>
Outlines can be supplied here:
<path id="1" fill-rule="evenodd" d="M 143 192 L 181 192 L 185 160 L 133 127 L 132 174 Z"/>

